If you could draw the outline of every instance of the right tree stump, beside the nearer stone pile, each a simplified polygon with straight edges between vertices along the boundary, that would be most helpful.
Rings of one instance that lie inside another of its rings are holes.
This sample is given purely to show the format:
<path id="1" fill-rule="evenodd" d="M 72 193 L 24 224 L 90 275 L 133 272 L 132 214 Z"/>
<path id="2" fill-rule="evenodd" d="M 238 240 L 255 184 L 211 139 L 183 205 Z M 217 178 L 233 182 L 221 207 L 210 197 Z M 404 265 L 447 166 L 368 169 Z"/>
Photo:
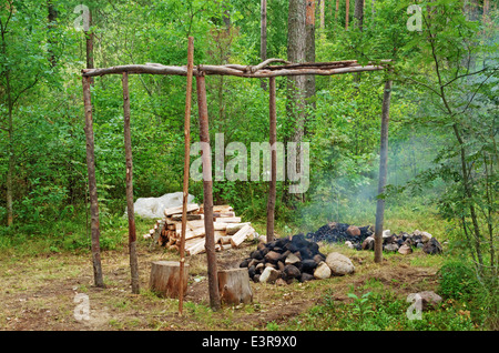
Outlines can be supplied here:
<path id="1" fill-rule="evenodd" d="M 253 292 L 246 269 L 218 271 L 218 291 L 221 301 L 225 304 L 251 303 Z"/>

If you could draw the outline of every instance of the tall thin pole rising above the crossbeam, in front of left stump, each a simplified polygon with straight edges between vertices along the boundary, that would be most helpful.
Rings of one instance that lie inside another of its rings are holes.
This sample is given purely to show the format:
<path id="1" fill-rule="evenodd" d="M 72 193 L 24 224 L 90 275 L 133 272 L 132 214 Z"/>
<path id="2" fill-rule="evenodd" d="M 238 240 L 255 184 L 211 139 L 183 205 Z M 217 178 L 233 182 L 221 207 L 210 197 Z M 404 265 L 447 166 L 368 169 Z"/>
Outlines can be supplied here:
<path id="1" fill-rule="evenodd" d="M 179 315 L 182 315 L 184 303 L 184 264 L 185 264 L 185 232 L 187 230 L 187 202 L 189 202 L 189 167 L 191 162 L 191 100 L 192 77 L 194 70 L 194 38 L 189 37 L 187 47 L 187 88 L 185 97 L 184 117 L 184 193 L 182 198 L 182 234 L 180 243 L 180 281 L 179 289 Z"/>

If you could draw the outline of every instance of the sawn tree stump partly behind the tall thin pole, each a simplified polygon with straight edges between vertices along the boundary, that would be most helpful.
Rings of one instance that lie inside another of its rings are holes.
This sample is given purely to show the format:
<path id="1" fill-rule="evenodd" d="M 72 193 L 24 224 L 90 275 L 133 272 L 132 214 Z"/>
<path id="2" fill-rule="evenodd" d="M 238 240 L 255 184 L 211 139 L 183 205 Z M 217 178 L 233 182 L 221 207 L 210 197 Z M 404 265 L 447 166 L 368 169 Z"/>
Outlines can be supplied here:
<path id="1" fill-rule="evenodd" d="M 189 264 L 185 264 L 184 290 L 187 292 Z M 151 266 L 149 288 L 164 297 L 179 297 L 180 290 L 180 262 L 155 261 Z"/>

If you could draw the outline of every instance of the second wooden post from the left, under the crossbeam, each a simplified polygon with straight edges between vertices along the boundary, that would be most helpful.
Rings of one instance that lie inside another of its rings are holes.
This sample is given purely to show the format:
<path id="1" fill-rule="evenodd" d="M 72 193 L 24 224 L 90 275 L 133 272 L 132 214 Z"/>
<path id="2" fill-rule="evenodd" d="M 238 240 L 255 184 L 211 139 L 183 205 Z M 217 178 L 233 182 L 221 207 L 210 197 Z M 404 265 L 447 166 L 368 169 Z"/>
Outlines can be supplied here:
<path id="1" fill-rule="evenodd" d="M 133 208 L 133 160 L 132 160 L 132 134 L 130 132 L 130 93 L 129 93 L 129 73 L 123 72 L 121 79 L 123 85 L 123 131 L 126 159 L 126 212 L 129 215 L 129 252 L 130 252 L 130 272 L 132 276 L 132 293 L 140 293 L 139 284 L 139 263 L 136 259 L 136 232 L 135 232 L 135 212 Z"/>

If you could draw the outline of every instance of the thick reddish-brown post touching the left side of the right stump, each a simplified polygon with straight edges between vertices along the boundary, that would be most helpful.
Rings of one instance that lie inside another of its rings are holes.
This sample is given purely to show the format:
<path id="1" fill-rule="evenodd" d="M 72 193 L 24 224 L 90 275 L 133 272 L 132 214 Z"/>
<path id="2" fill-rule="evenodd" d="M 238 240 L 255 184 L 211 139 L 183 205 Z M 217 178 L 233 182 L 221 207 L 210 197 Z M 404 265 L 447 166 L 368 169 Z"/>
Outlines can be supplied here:
<path id="1" fill-rule="evenodd" d="M 204 229 L 206 232 L 205 250 L 208 274 L 210 306 L 220 310 L 218 275 L 215 254 L 215 231 L 213 226 L 213 181 L 212 158 L 210 149 L 210 130 L 206 102 L 206 83 L 202 73 L 196 77 L 197 107 L 200 112 L 200 137 L 206 147 L 202 150 L 203 158 L 203 190 L 204 190 Z"/>

